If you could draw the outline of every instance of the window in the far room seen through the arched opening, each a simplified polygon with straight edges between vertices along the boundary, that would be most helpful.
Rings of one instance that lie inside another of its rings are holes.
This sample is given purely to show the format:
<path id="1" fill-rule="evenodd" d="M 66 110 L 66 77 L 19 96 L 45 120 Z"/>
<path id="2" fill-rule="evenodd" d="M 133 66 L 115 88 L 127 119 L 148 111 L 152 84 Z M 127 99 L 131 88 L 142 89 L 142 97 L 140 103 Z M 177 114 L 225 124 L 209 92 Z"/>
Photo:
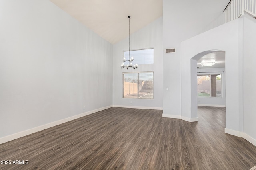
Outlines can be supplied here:
<path id="1" fill-rule="evenodd" d="M 221 97 L 221 74 L 209 74 L 197 76 L 198 97 Z"/>

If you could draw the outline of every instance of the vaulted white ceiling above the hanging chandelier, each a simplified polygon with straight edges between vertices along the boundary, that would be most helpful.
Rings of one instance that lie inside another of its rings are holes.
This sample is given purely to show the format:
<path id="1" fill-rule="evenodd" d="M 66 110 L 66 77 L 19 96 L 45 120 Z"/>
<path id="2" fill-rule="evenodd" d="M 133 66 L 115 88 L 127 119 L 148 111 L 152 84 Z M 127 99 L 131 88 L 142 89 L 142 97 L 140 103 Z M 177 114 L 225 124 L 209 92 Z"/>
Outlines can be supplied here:
<path id="1" fill-rule="evenodd" d="M 50 0 L 112 44 L 162 16 L 162 0 Z"/>

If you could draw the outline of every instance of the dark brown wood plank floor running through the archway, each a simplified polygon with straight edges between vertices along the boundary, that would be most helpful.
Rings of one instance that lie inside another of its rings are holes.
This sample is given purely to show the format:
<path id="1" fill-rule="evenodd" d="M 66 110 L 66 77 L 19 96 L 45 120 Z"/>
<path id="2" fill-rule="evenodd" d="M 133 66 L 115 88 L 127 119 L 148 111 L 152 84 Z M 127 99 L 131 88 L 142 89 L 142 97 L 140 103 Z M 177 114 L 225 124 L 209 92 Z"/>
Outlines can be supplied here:
<path id="1" fill-rule="evenodd" d="M 198 107 L 198 122 L 162 111 L 106 109 L 0 145 L 7 169 L 248 170 L 256 147 L 224 133 L 225 108 Z"/>

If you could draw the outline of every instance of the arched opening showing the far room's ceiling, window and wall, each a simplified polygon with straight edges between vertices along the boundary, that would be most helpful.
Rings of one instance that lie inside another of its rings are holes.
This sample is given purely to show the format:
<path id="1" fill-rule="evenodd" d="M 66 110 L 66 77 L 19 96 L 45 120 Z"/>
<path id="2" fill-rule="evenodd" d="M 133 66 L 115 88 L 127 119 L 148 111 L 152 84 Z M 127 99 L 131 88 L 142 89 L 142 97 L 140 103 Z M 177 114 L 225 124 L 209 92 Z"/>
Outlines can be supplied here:
<path id="1" fill-rule="evenodd" d="M 198 116 L 198 106 L 225 107 L 225 51 L 208 50 L 190 60 L 191 116 Z"/>

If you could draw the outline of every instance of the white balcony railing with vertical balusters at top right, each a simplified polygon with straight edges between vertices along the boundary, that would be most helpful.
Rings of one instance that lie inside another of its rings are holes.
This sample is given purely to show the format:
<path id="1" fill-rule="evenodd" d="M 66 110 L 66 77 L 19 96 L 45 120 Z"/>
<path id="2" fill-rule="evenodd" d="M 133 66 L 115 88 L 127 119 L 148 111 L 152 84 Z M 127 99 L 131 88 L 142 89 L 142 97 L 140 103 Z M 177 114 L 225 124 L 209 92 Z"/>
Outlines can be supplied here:
<path id="1" fill-rule="evenodd" d="M 245 13 L 256 17 L 256 0 L 230 0 L 224 12 L 226 22 L 235 20 Z"/>

